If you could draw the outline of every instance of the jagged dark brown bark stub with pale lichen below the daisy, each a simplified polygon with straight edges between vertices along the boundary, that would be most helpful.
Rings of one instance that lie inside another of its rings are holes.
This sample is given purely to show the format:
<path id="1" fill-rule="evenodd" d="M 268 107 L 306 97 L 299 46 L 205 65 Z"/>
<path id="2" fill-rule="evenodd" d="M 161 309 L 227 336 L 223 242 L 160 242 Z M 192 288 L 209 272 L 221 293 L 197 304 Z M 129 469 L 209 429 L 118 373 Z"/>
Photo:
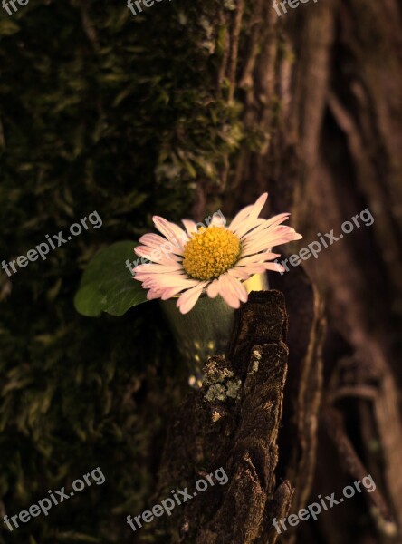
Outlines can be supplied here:
<path id="1" fill-rule="evenodd" d="M 191 393 L 175 415 L 160 472 L 160 498 L 177 481 L 194 484 L 218 467 L 229 481 L 177 509 L 170 524 L 172 542 L 263 542 L 272 533 L 273 517 L 286 515 L 292 486 L 289 481 L 278 486 L 275 478 L 286 329 L 282 294 L 253 293 L 237 314 L 228 359 L 209 360 L 202 389 Z"/>

